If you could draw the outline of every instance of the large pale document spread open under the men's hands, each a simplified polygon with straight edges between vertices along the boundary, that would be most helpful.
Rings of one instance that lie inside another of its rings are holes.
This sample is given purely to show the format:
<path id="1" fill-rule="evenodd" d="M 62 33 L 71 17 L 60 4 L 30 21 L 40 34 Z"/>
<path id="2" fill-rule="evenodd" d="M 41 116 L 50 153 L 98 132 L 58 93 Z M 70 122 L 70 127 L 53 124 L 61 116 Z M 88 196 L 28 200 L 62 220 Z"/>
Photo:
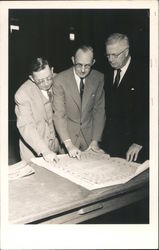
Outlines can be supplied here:
<path id="1" fill-rule="evenodd" d="M 91 151 L 83 152 L 80 160 L 68 155 L 58 157 L 54 165 L 42 157 L 31 161 L 89 190 L 125 183 L 149 167 L 149 161 L 138 164 Z"/>

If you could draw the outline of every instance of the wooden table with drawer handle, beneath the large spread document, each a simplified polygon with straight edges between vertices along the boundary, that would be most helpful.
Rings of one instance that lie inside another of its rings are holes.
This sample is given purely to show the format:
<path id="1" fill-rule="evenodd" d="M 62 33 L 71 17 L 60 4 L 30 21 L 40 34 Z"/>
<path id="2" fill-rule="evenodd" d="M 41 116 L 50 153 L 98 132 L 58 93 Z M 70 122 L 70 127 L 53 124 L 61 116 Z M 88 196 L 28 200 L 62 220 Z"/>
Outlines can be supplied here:
<path id="1" fill-rule="evenodd" d="M 89 191 L 47 169 L 9 181 L 9 223 L 75 224 L 149 196 L 149 171 L 129 182 Z"/>

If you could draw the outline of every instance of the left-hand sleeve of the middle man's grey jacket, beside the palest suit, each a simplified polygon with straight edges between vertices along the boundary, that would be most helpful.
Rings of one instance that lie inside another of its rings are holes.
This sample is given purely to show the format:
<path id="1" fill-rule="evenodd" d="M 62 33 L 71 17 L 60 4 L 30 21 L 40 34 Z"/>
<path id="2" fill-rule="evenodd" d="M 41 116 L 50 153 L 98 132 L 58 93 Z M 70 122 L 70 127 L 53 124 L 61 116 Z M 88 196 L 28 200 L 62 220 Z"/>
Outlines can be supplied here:
<path id="1" fill-rule="evenodd" d="M 65 106 L 65 93 L 61 85 L 63 79 L 56 78 L 53 85 L 53 120 L 62 142 L 70 139 L 69 132 L 67 129 L 67 112 Z"/>

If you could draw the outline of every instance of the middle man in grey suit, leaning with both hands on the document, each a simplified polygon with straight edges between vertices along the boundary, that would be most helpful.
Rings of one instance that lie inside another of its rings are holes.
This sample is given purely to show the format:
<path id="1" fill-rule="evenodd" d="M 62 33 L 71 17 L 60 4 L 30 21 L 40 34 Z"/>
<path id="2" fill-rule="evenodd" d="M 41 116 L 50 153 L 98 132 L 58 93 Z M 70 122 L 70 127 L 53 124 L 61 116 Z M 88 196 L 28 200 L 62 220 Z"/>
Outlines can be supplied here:
<path id="1" fill-rule="evenodd" d="M 105 123 L 103 74 L 91 70 L 93 49 L 83 45 L 72 57 L 73 67 L 54 79 L 53 112 L 56 130 L 70 157 L 80 158 L 81 151 L 100 151 Z"/>

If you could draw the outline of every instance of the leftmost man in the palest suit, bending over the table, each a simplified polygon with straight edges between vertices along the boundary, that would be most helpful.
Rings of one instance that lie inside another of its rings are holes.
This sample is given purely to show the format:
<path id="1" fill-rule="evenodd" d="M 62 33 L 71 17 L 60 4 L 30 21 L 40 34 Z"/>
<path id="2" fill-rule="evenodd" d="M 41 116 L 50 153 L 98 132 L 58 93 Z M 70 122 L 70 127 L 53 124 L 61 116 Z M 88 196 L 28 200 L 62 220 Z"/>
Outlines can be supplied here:
<path id="1" fill-rule="evenodd" d="M 48 162 L 57 162 L 59 143 L 53 126 L 51 86 L 53 68 L 43 58 L 36 58 L 31 65 L 31 75 L 15 94 L 15 113 L 20 155 L 23 160 L 43 156 Z M 50 98 L 49 98 L 50 96 Z"/>

